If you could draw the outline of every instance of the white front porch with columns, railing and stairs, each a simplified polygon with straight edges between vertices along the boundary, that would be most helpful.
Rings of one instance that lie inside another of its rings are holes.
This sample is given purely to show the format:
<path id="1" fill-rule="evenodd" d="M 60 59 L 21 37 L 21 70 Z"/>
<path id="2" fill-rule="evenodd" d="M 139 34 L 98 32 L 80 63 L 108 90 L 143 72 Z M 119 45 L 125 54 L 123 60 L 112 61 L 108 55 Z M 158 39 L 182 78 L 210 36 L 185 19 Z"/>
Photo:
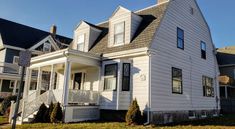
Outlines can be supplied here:
<path id="1" fill-rule="evenodd" d="M 35 75 L 36 82 L 32 80 Z M 35 114 L 42 103 L 51 102 L 61 103 L 65 122 L 97 119 L 99 80 L 100 57 L 97 55 L 64 49 L 32 58 L 20 102 L 22 122 Z M 76 115 L 84 113 L 81 112 L 84 108 L 87 116 Z M 89 116 L 92 112 L 97 117 Z"/>

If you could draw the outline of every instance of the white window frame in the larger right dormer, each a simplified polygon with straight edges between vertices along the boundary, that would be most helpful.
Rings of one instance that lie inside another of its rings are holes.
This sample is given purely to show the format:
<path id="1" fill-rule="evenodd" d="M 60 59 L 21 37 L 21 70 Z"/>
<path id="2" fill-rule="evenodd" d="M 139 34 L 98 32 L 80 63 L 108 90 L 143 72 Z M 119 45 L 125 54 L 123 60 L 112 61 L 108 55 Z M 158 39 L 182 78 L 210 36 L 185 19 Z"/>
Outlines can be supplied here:
<path id="1" fill-rule="evenodd" d="M 122 25 L 122 24 L 123 24 L 123 32 L 116 33 L 116 27 L 118 25 Z M 125 21 L 114 24 L 113 30 L 114 30 L 114 32 L 113 32 L 113 46 L 123 45 L 125 42 Z M 122 42 L 119 43 L 116 40 L 116 36 L 120 36 L 120 35 L 123 35 L 123 39 L 122 39 Z"/>

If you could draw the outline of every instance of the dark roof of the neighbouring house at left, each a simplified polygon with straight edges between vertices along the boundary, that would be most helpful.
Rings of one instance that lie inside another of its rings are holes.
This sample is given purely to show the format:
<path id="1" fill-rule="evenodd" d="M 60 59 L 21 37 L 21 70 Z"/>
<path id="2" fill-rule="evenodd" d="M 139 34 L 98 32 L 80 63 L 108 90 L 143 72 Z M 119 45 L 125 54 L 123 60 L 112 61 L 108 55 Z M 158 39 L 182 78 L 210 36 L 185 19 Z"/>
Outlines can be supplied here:
<path id="1" fill-rule="evenodd" d="M 49 32 L 8 21 L 2 18 L 0 18 L 0 34 L 5 45 L 25 49 L 32 47 L 50 35 Z M 72 39 L 60 35 L 56 35 L 55 38 L 65 44 L 70 44 L 72 41 Z"/>

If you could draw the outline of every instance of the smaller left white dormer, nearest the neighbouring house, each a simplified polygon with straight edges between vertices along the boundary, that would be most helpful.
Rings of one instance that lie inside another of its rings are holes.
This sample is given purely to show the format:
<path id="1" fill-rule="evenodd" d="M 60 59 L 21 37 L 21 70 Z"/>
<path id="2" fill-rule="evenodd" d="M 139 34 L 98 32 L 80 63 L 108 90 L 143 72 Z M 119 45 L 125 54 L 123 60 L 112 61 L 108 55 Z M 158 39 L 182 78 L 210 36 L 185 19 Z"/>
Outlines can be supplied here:
<path id="1" fill-rule="evenodd" d="M 101 30 L 86 21 L 81 21 L 74 31 L 74 42 L 72 49 L 88 52 Z"/>

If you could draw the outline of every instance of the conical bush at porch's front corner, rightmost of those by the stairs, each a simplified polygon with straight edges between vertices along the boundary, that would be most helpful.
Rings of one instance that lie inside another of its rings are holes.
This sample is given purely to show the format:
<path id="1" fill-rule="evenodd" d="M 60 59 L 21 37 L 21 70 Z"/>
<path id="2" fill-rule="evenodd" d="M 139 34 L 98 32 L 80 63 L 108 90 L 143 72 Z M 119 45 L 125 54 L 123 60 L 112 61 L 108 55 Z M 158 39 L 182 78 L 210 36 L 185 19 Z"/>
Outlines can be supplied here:
<path id="1" fill-rule="evenodd" d="M 63 112 L 62 112 L 60 103 L 58 102 L 53 108 L 50 119 L 52 123 L 57 123 L 57 122 L 62 121 L 62 118 L 63 118 Z"/>

